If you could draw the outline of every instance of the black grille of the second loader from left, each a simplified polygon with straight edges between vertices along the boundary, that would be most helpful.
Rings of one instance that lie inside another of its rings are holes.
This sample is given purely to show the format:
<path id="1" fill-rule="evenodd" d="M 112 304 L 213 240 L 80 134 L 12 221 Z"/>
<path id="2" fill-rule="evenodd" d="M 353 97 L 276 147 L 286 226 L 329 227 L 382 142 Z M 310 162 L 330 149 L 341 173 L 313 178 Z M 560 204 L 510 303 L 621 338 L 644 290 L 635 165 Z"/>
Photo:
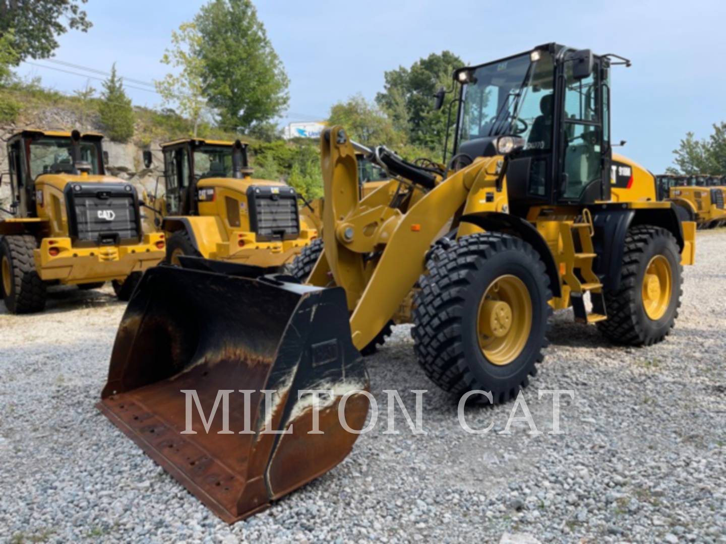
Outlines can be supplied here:
<path id="1" fill-rule="evenodd" d="M 260 242 L 294 240 L 300 234 L 298 195 L 287 186 L 250 186 L 247 189 L 250 228 Z"/>

